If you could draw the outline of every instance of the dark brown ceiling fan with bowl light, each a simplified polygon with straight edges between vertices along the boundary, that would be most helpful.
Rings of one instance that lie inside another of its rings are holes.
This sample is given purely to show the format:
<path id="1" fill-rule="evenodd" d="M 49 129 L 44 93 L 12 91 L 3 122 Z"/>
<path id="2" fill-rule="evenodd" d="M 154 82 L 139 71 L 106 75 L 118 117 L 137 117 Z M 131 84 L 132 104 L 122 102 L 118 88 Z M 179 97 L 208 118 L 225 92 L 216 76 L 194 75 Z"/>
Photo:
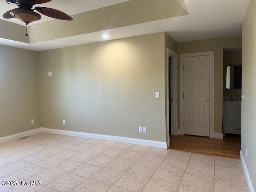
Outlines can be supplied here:
<path id="1" fill-rule="evenodd" d="M 50 1 L 51 0 L 6 0 L 8 4 L 9 3 L 16 4 L 18 8 L 5 12 L 3 14 L 3 18 L 5 19 L 18 18 L 22 22 L 25 22 L 26 26 L 28 26 L 28 24 L 33 21 L 40 20 L 41 19 L 40 14 L 43 14 L 51 18 L 60 19 L 60 20 L 68 20 L 68 21 L 73 20 L 73 18 L 67 15 L 66 13 L 56 9 L 47 8 L 47 7 L 33 8 L 33 6 L 36 4 L 47 3 Z M 34 10 L 38 11 L 40 14 L 34 12 Z"/>

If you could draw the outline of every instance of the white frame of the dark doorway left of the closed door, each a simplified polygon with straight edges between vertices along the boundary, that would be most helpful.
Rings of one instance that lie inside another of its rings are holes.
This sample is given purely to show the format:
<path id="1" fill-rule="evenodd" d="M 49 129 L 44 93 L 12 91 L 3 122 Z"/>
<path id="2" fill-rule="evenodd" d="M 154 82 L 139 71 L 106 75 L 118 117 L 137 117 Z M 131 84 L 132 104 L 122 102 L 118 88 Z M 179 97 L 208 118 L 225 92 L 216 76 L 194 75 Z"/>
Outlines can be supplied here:
<path id="1" fill-rule="evenodd" d="M 172 51 L 171 49 L 167 48 L 166 49 L 166 118 L 167 118 L 167 138 L 168 138 L 168 146 L 170 146 L 170 125 L 169 125 L 169 57 L 172 57 L 172 130 L 171 130 L 171 135 L 178 135 L 178 126 L 177 126 L 177 122 L 178 122 L 178 116 L 177 116 L 177 93 L 178 93 L 178 86 L 177 86 L 177 76 L 178 76 L 178 72 L 177 72 L 177 58 L 178 55 L 177 53 L 175 53 L 174 51 Z"/>

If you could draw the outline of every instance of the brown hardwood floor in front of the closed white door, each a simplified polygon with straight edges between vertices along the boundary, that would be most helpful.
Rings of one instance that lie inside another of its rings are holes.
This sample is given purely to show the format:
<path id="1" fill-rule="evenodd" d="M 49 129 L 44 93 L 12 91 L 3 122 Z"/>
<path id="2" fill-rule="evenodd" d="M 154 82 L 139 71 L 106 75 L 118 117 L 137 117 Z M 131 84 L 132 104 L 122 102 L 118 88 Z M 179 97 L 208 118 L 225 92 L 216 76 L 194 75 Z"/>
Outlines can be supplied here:
<path id="1" fill-rule="evenodd" d="M 227 134 L 222 140 L 208 137 L 172 135 L 170 139 L 170 149 L 229 158 L 240 158 L 241 137 L 240 135 Z"/>

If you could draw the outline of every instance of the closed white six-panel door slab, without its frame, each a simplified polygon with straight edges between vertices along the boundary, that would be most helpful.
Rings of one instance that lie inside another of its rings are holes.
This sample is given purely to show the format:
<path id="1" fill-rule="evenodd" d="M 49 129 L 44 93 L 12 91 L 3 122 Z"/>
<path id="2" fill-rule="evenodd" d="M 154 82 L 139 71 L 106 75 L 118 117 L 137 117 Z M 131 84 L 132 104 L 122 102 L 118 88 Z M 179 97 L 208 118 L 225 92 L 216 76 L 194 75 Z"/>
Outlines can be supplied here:
<path id="1" fill-rule="evenodd" d="M 209 137 L 210 55 L 184 59 L 184 134 Z"/>

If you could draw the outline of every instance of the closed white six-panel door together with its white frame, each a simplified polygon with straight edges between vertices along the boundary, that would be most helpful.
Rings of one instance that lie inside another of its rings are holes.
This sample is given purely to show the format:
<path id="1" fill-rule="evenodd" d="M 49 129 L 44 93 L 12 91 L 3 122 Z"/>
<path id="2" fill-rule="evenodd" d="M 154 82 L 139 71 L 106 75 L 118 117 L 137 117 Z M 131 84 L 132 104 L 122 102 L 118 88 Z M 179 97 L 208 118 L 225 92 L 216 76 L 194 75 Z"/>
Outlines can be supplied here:
<path id="1" fill-rule="evenodd" d="M 214 134 L 214 51 L 180 55 L 180 135 L 218 136 Z"/>

